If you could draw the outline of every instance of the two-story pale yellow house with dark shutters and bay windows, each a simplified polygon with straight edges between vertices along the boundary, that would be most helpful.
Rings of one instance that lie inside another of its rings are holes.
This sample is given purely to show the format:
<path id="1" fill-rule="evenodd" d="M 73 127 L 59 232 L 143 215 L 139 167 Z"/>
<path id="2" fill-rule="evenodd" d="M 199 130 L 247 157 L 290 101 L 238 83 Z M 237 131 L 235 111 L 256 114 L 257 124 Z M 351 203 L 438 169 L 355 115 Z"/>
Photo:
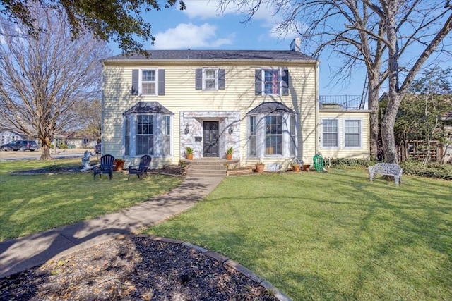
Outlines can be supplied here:
<path id="1" fill-rule="evenodd" d="M 233 158 L 369 158 L 369 111 L 320 109 L 319 61 L 288 51 L 156 50 L 103 63 L 102 154 L 153 167 Z M 268 166 L 268 165 L 267 165 Z"/>

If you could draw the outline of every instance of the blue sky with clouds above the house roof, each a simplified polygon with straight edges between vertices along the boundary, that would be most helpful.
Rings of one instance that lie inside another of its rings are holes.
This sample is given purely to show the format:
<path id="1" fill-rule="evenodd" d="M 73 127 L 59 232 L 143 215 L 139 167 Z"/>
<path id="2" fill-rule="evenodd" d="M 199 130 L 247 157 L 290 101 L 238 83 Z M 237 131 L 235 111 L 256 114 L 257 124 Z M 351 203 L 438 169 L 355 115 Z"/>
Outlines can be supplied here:
<path id="1" fill-rule="evenodd" d="M 161 3 L 165 2 L 161 0 Z M 219 13 L 217 0 L 184 0 L 185 11 L 179 7 L 162 8 L 143 15 L 152 25 L 155 44 L 145 42 L 145 49 L 265 49 L 288 50 L 295 34 L 281 36 L 275 32 L 280 20 L 274 16 L 272 8 L 262 6 L 249 23 L 243 23 L 246 15 L 228 8 Z M 252 2 L 252 1 L 250 1 Z M 114 54 L 121 52 L 111 44 Z M 303 51 L 303 49 L 302 49 Z M 416 51 L 415 51 L 416 52 Z M 309 53 L 306 53 L 309 55 Z M 336 64 L 340 64 L 334 54 L 323 54 L 320 58 L 320 95 L 361 95 L 366 75 L 365 68 L 354 70 L 350 78 L 337 82 L 333 78 Z M 410 60 L 405 56 L 405 59 Z M 428 67 L 431 65 L 426 63 Z M 450 65 L 448 63 L 447 65 Z M 382 88 L 380 94 L 386 92 Z"/>

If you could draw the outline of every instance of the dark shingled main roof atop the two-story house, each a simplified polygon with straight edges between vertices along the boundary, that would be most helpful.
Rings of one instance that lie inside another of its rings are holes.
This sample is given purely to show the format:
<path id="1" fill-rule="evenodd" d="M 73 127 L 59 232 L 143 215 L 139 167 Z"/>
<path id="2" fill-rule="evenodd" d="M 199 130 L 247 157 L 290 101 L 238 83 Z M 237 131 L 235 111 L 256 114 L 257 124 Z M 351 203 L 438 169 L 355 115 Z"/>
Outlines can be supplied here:
<path id="1" fill-rule="evenodd" d="M 237 60 L 307 60 L 316 61 L 311 56 L 292 50 L 150 50 L 149 59 L 237 59 Z M 143 54 L 124 56 L 119 54 L 111 56 L 104 61 L 110 60 L 144 60 Z"/>

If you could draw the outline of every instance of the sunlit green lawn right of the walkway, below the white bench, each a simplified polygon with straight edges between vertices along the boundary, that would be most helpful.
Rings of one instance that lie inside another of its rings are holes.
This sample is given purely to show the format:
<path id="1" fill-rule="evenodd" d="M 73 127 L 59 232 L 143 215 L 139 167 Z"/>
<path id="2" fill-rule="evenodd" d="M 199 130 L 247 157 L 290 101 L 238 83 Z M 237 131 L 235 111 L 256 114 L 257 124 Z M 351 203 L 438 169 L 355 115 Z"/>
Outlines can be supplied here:
<path id="1" fill-rule="evenodd" d="M 146 232 L 225 254 L 294 300 L 452 300 L 451 181 L 230 177 Z"/>

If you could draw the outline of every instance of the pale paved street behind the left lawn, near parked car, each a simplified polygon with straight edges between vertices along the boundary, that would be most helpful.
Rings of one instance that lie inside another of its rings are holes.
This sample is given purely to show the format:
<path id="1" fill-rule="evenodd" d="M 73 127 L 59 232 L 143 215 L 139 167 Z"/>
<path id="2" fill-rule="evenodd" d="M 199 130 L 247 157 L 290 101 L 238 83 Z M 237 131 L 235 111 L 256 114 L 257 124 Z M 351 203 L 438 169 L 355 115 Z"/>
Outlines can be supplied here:
<path id="1" fill-rule="evenodd" d="M 52 149 L 51 155 L 52 158 L 78 158 L 82 157 L 83 153 L 88 150 L 93 154 L 93 159 L 97 157 L 97 154 L 93 152 L 93 149 L 57 149 L 57 154 L 54 154 L 54 150 Z M 25 152 L 1 152 L 0 151 L 0 161 L 14 161 L 14 160 L 33 160 L 40 159 L 41 151 L 36 150 L 35 152 L 25 151 Z M 99 154 L 100 156 L 100 154 Z"/>

